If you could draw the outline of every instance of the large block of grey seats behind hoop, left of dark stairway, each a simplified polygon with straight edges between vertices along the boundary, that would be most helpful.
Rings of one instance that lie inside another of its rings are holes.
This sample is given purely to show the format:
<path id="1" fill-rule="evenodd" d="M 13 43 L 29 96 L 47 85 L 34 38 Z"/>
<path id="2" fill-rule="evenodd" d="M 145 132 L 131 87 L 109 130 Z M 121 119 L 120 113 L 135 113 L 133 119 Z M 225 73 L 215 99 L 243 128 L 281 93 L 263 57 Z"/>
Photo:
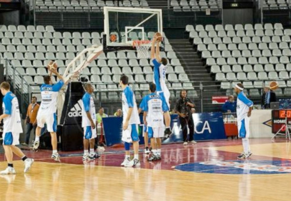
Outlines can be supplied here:
<path id="1" fill-rule="evenodd" d="M 103 34 L 97 32 L 60 33 L 55 32 L 52 26 L 36 26 L 35 28 L 2 25 L 0 27 L 0 57 L 11 61 L 28 84 L 32 85 L 32 91 L 35 93 L 39 92 L 39 84 L 43 83 L 42 76 L 48 73 L 46 66 L 50 60 L 57 62 L 58 70 L 63 74 L 66 65 L 81 50 L 92 44 L 101 44 Z M 147 34 L 149 39 L 152 36 L 152 33 Z M 161 56 L 169 60 L 167 68 L 169 88 L 171 90 L 182 87 L 194 89 L 191 83 L 185 83 L 189 81 L 188 76 L 166 37 L 165 51 L 161 52 Z M 2 59 L 1 62 L 3 63 L 4 60 Z M 127 74 L 135 90 L 147 91 L 147 83 L 153 81 L 151 66 L 153 65 L 149 59 L 138 59 L 135 51 L 108 52 L 99 55 L 96 61 L 85 68 L 82 71 L 82 77 L 97 84 L 96 89 L 112 91 L 117 90 L 120 75 Z"/>

